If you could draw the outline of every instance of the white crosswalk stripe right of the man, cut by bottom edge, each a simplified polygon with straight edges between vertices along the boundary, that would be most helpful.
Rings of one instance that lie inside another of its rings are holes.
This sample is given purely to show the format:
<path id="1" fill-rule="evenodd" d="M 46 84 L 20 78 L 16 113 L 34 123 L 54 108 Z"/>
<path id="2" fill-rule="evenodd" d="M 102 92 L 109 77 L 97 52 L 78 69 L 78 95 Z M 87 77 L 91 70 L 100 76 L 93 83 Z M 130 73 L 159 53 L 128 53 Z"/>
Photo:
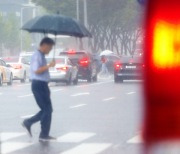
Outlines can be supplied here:
<path id="1" fill-rule="evenodd" d="M 111 146 L 112 144 L 108 143 L 83 143 L 71 150 L 62 152 L 61 154 L 98 154 Z"/>

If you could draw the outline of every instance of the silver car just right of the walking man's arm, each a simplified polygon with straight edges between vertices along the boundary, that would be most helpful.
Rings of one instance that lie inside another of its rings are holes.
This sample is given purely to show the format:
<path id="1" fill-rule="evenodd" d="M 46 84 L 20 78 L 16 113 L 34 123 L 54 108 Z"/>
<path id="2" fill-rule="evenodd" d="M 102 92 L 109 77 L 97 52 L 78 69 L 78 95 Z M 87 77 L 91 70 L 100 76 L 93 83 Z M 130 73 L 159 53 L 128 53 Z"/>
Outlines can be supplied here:
<path id="1" fill-rule="evenodd" d="M 46 57 L 47 62 L 53 60 L 52 57 Z M 78 83 L 78 67 L 73 65 L 68 57 L 58 56 L 55 57 L 56 66 L 50 68 L 50 81 L 51 82 L 65 82 L 67 85 Z"/>

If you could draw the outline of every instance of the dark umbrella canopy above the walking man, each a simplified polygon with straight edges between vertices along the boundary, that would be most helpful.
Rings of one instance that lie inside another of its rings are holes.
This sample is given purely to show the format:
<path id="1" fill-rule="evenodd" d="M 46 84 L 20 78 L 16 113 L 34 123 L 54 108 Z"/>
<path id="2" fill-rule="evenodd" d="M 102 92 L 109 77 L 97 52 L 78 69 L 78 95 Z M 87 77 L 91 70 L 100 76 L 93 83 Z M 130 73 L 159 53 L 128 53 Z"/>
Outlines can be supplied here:
<path id="1" fill-rule="evenodd" d="M 62 15 L 45 15 L 28 21 L 23 27 L 30 33 L 92 37 L 87 28 L 76 20 Z"/>

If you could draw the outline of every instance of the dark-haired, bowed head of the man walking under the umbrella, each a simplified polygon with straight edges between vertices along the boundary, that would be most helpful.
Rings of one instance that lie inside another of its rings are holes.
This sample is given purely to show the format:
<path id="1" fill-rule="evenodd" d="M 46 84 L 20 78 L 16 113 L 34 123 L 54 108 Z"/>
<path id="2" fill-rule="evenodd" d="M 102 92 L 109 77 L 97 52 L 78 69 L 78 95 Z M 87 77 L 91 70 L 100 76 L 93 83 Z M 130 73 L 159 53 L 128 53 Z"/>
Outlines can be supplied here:
<path id="1" fill-rule="evenodd" d="M 40 43 L 40 51 L 44 54 L 49 54 L 54 45 L 55 42 L 52 39 L 45 37 Z"/>

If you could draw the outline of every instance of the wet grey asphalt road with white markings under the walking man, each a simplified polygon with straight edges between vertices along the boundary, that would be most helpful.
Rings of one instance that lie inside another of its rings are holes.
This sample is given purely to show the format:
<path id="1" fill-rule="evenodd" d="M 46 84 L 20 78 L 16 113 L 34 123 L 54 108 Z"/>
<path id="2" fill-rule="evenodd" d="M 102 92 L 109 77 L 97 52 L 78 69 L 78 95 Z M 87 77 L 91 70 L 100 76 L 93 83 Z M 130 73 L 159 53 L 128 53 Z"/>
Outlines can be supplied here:
<path id="1" fill-rule="evenodd" d="M 39 143 L 39 123 L 30 139 L 21 126 L 38 112 L 30 83 L 0 88 L 1 154 L 139 154 L 141 82 L 114 84 L 111 79 L 77 86 L 50 84 L 53 102 L 51 135 Z"/>

